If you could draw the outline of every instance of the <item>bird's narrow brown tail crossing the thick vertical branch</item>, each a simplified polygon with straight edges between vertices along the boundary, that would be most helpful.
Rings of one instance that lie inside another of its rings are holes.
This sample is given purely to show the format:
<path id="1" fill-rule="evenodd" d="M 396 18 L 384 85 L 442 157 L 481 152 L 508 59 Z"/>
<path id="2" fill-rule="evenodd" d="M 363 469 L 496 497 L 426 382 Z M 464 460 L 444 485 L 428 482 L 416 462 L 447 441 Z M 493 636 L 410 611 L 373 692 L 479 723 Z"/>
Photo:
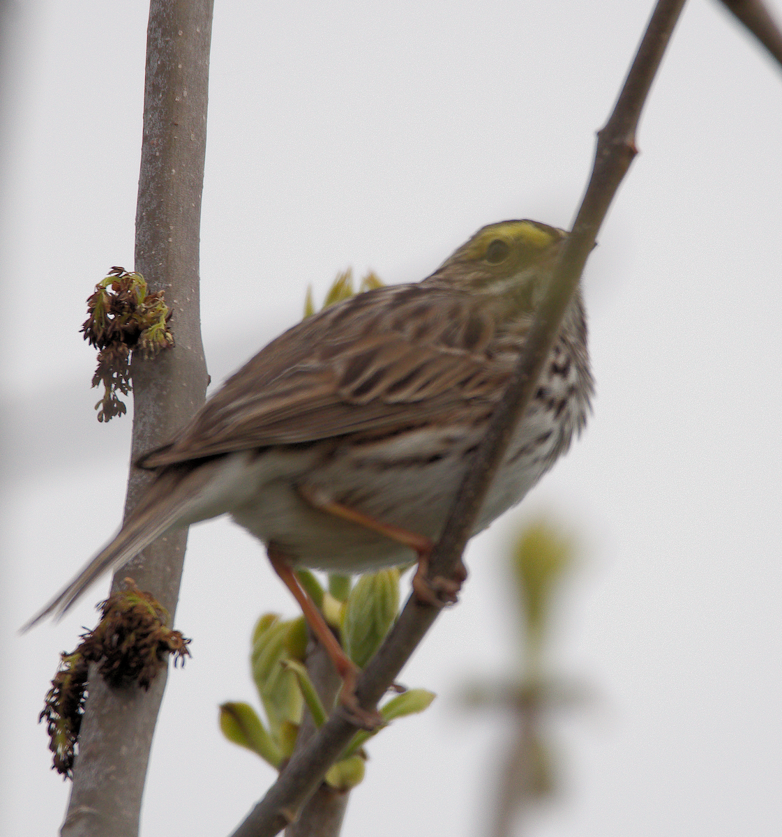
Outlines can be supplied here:
<path id="1" fill-rule="evenodd" d="M 109 570 L 121 567 L 181 520 L 203 487 L 203 473 L 186 466 L 167 468 L 157 475 L 131 516 L 111 543 L 102 549 L 39 614 L 23 625 L 22 632 L 41 619 L 62 616 L 86 589 Z"/>

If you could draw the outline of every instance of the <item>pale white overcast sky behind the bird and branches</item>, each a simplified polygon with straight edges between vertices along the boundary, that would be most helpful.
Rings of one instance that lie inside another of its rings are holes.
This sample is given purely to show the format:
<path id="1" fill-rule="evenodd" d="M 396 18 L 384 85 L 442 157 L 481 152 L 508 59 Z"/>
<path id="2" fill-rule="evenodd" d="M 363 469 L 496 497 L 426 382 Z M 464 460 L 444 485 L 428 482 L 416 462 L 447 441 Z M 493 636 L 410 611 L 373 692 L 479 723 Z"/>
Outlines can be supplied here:
<path id="1" fill-rule="evenodd" d="M 782 17 L 779 0 L 772 4 Z M 85 298 L 132 266 L 144 3 L 20 3 L 3 189 L 0 831 L 54 834 L 68 785 L 36 723 L 59 651 L 94 624 L 33 614 L 121 518 L 131 420 L 95 420 Z M 217 3 L 202 321 L 219 382 L 352 264 L 422 279 L 484 223 L 568 226 L 645 3 Z M 782 833 L 779 194 L 782 76 L 692 0 L 584 289 L 598 395 L 584 438 L 471 544 L 471 578 L 402 680 L 439 693 L 370 746 L 346 837 L 483 833 L 502 718 L 456 706 L 512 665 L 502 548 L 546 510 L 579 534 L 553 666 L 594 707 L 554 726 L 566 794 L 539 837 Z M 255 702 L 249 634 L 295 614 L 227 521 L 191 531 L 142 832 L 228 834 L 273 778 L 224 742 Z"/>

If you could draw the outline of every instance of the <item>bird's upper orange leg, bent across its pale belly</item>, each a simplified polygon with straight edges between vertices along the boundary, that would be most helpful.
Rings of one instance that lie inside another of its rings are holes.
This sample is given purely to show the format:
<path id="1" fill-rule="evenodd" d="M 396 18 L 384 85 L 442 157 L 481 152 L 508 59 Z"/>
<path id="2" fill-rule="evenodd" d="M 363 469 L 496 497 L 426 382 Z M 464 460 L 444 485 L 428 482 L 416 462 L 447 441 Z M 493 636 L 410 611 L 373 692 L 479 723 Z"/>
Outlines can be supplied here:
<path id="1" fill-rule="evenodd" d="M 454 569 L 452 578 L 444 578 L 443 576 L 429 578 L 429 559 L 432 550 L 435 548 L 431 538 L 418 535 L 414 531 L 403 529 L 401 526 L 378 521 L 374 517 L 365 515 L 363 511 L 330 500 L 317 490 L 304 489 L 300 486 L 299 493 L 304 500 L 319 511 L 326 511 L 335 517 L 341 517 L 342 520 L 357 523 L 358 526 L 377 531 L 381 535 L 391 538 L 392 541 L 412 549 L 418 556 L 418 568 L 413 576 L 413 592 L 419 602 L 430 604 L 435 608 L 442 608 L 445 604 L 458 601 L 461 585 L 467 578 L 467 568 L 460 559 Z"/>

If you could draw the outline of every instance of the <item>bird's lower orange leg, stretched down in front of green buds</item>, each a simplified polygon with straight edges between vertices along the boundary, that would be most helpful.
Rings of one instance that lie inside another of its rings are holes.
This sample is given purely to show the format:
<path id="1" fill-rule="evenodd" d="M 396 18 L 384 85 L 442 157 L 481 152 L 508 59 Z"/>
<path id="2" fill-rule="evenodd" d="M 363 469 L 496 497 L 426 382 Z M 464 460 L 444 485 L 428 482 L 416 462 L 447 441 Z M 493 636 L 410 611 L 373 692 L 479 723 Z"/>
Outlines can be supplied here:
<path id="1" fill-rule="evenodd" d="M 299 603 L 301 613 L 304 614 L 312 633 L 316 635 L 318 641 L 326 650 L 329 659 L 337 670 L 337 674 L 342 677 L 339 701 L 345 707 L 348 719 L 359 727 L 369 730 L 377 729 L 383 723 L 383 719 L 376 711 L 370 712 L 362 709 L 361 706 L 358 706 L 356 699 L 356 677 L 360 669 L 342 650 L 342 646 L 337 642 L 337 637 L 332 634 L 332 629 L 326 624 L 326 619 L 323 619 L 323 614 L 317 608 L 316 603 L 312 601 L 309 593 L 296 578 L 296 573 L 293 572 L 285 552 L 282 552 L 274 543 L 270 543 L 266 547 L 266 552 L 268 552 L 269 561 L 271 566 L 274 567 L 275 573 L 280 576 L 286 588 L 293 593 L 293 597 Z"/>

